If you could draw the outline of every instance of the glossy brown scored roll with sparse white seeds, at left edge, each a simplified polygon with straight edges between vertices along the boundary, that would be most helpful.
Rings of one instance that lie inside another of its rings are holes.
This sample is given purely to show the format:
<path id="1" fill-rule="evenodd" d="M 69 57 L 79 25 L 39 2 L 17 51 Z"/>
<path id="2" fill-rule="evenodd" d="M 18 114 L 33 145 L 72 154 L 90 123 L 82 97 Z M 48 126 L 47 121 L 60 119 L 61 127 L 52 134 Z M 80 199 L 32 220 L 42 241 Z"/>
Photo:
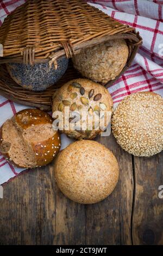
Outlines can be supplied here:
<path id="1" fill-rule="evenodd" d="M 14 166 L 32 168 L 51 162 L 60 149 L 60 136 L 50 115 L 24 109 L 5 121 L 0 130 L 0 151 Z"/>

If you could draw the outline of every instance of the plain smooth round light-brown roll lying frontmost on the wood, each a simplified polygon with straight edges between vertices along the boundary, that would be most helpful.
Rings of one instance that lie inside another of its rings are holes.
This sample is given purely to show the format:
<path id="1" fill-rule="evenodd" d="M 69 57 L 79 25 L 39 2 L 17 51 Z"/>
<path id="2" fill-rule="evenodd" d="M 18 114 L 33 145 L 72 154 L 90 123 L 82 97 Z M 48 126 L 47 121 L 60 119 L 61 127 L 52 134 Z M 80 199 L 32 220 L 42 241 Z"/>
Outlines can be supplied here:
<path id="1" fill-rule="evenodd" d="M 54 163 L 57 184 L 66 197 L 81 204 L 97 203 L 114 190 L 119 175 L 116 157 L 95 141 L 74 142 Z"/>

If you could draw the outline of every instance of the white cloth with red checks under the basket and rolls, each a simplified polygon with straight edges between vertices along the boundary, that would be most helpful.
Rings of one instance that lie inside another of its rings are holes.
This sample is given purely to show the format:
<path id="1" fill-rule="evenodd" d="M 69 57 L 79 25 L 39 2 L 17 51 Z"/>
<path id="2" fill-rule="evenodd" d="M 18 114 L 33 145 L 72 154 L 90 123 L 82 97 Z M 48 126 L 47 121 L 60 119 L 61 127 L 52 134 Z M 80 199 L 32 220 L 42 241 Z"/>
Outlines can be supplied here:
<path id="1" fill-rule="evenodd" d="M 0 0 L 0 26 L 11 11 L 25 0 Z M 103 0 L 89 3 L 104 13 L 131 27 L 143 38 L 143 45 L 134 63 L 109 88 L 114 107 L 123 97 L 139 91 L 156 92 L 163 96 L 163 1 L 159 0 Z M 0 126 L 26 106 L 13 103 L 0 96 Z M 62 148 L 70 143 L 63 135 Z M 22 169 L 9 166 L 0 155 L 0 184 L 20 174 Z"/>

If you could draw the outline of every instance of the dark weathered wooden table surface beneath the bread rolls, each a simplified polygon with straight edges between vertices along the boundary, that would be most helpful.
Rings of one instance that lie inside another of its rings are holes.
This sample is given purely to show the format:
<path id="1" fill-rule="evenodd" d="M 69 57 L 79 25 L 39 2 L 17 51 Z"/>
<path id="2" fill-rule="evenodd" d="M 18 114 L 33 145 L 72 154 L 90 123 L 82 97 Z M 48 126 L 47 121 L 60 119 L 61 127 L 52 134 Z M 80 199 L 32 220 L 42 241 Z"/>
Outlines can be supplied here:
<path id="1" fill-rule="evenodd" d="M 103 202 L 81 205 L 59 191 L 53 164 L 17 176 L 0 199 L 0 245 L 163 244 L 163 152 L 133 157 L 112 135 L 96 140 L 120 164 L 114 192 Z"/>

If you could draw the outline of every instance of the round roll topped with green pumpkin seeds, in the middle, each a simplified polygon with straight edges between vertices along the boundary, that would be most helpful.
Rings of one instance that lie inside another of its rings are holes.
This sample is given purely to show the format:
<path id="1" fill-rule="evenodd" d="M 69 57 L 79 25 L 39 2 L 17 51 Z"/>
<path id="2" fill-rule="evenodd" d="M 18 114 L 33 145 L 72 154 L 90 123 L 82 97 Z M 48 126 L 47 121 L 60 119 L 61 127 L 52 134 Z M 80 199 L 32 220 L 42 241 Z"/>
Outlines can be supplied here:
<path id="1" fill-rule="evenodd" d="M 64 127 L 60 128 L 60 131 L 71 138 L 92 139 L 103 131 L 104 126 L 108 125 L 112 105 L 111 96 L 104 86 L 88 79 L 79 78 L 64 84 L 54 94 L 53 117 L 54 112 L 60 111 L 65 120 L 65 107 L 69 107 L 70 115 L 67 120 L 69 127 L 64 123 Z M 106 113 L 108 117 L 106 117 Z M 78 117 L 75 123 L 73 114 Z"/>

